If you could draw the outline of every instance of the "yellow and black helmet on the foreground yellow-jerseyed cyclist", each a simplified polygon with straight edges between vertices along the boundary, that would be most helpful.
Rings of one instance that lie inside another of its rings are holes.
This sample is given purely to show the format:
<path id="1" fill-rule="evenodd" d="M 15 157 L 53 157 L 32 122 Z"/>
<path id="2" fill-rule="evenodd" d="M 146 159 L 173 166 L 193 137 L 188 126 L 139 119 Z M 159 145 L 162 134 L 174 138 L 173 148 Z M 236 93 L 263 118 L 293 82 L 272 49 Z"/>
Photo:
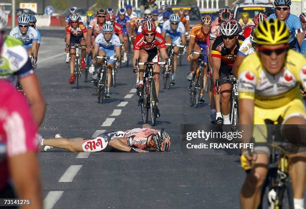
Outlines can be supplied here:
<path id="1" fill-rule="evenodd" d="M 290 32 L 283 21 L 265 20 L 254 30 L 254 41 L 259 45 L 287 44 Z"/>

